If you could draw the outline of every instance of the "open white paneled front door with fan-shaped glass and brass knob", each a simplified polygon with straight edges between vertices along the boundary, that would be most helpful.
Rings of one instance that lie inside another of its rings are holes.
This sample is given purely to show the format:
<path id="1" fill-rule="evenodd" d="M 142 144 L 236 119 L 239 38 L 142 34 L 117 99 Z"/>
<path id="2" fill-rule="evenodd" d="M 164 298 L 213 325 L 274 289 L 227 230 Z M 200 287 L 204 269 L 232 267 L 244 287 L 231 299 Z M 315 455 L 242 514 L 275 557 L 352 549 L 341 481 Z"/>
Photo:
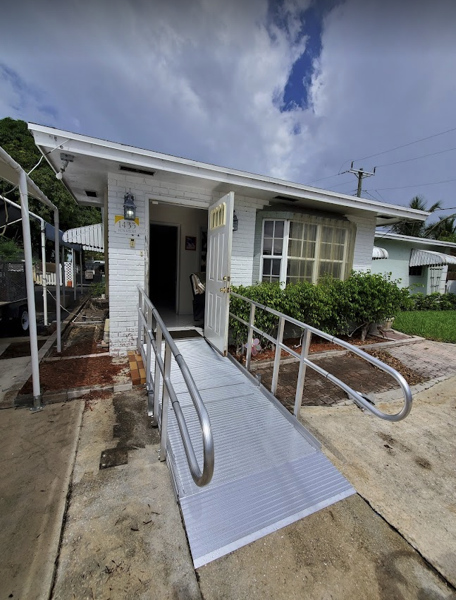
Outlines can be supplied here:
<path id="1" fill-rule="evenodd" d="M 223 356 L 228 352 L 233 210 L 234 192 L 230 192 L 209 206 L 207 226 L 204 337 Z"/>

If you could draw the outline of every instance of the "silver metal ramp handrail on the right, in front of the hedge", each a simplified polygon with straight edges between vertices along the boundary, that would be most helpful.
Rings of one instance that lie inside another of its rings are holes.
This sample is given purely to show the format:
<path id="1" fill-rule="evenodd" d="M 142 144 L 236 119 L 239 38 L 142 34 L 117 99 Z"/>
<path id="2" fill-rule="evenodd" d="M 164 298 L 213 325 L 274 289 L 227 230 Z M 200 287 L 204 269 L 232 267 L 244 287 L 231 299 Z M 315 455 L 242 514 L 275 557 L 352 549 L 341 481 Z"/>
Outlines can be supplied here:
<path id="1" fill-rule="evenodd" d="M 278 371 L 280 368 L 280 361 L 281 361 L 281 351 L 285 350 L 285 352 L 288 352 L 288 354 L 295 356 L 295 358 L 297 358 L 300 361 L 300 370 L 299 370 L 298 378 L 297 378 L 297 390 L 296 390 L 295 410 L 294 410 L 294 415 L 296 417 L 299 415 L 300 409 L 301 409 L 305 370 L 306 370 L 307 366 L 314 369 L 314 371 L 319 373 L 321 376 L 326 377 L 326 379 L 331 381 L 331 383 L 338 385 L 339 388 L 341 388 L 342 390 L 347 392 L 347 394 L 350 397 L 352 397 L 352 399 L 355 401 L 356 404 L 358 404 L 359 407 L 362 407 L 363 409 L 368 410 L 372 414 L 375 414 L 376 416 L 378 416 L 380 419 L 384 419 L 385 421 L 401 421 L 402 419 L 405 419 L 407 414 L 409 414 L 409 412 L 411 411 L 411 409 L 412 409 L 412 392 L 410 391 L 409 385 L 408 385 L 407 381 L 405 380 L 405 378 L 403 378 L 402 375 L 400 373 L 398 373 L 398 371 L 396 371 L 393 367 L 390 367 L 389 365 L 383 363 L 382 361 L 379 361 L 374 356 L 370 356 L 370 354 L 363 352 L 361 349 L 359 349 L 356 346 L 353 346 L 352 344 L 349 344 L 348 342 L 339 340 L 337 337 L 334 337 L 331 334 L 325 333 L 324 331 L 321 331 L 319 329 L 312 327 L 312 325 L 307 325 L 307 323 L 303 323 L 300 320 L 292 318 L 283 313 L 279 313 L 278 311 L 275 311 L 273 308 L 269 308 L 269 306 L 264 306 L 264 304 L 259 304 L 259 302 L 255 302 L 254 300 L 246 298 L 245 296 L 240 296 L 240 294 L 236 294 L 235 292 L 230 292 L 230 294 L 231 294 L 231 296 L 234 296 L 235 298 L 239 298 L 240 300 L 246 301 L 250 304 L 249 323 L 247 323 L 246 320 L 244 320 L 230 312 L 230 317 L 235 318 L 236 320 L 240 321 L 240 323 L 242 323 L 243 325 L 247 325 L 247 327 L 249 328 L 249 334 L 247 337 L 247 358 L 246 358 L 247 371 L 249 371 L 249 368 L 250 368 L 250 361 L 251 361 L 251 356 L 252 356 L 252 340 L 253 340 L 253 332 L 254 331 L 259 333 L 259 335 L 265 337 L 266 340 L 269 340 L 270 342 L 272 342 L 273 344 L 276 345 L 276 356 L 274 358 L 273 376 L 272 376 L 272 384 L 271 384 L 271 393 L 272 394 L 275 394 L 276 390 L 277 390 Z M 277 337 L 273 337 L 273 336 L 267 334 L 266 332 L 261 331 L 259 328 L 255 327 L 254 320 L 255 320 L 255 309 L 256 308 L 261 308 L 262 310 L 278 317 L 279 321 L 278 321 Z M 304 337 L 302 340 L 301 353 L 295 352 L 295 350 L 293 350 L 293 349 L 289 348 L 288 346 L 285 346 L 285 344 L 283 344 L 283 330 L 285 327 L 285 321 L 288 321 L 288 323 L 292 323 L 293 325 L 297 325 L 297 327 L 304 330 Z M 352 388 L 350 388 L 349 385 L 347 385 L 346 383 L 344 383 L 337 377 L 331 375 L 331 373 L 329 373 L 328 371 L 325 371 L 325 369 L 314 364 L 314 362 L 307 359 L 307 355 L 309 353 L 310 337 L 311 337 L 312 333 L 314 333 L 315 335 L 319 335 L 319 337 L 323 337 L 324 340 L 328 340 L 329 342 L 332 342 L 333 344 L 338 344 L 339 346 L 341 346 L 347 350 L 350 350 L 350 352 L 353 352 L 353 354 L 356 354 L 360 358 L 368 361 L 369 363 L 380 368 L 382 371 L 385 371 L 390 376 L 395 378 L 395 380 L 400 385 L 400 388 L 402 390 L 402 395 L 404 397 L 404 405 L 403 405 L 402 409 L 400 410 L 400 412 L 398 412 L 396 414 L 387 414 L 385 412 L 382 412 L 381 410 L 378 410 L 362 394 L 360 394 L 359 392 L 355 392 L 355 390 L 352 390 Z"/>

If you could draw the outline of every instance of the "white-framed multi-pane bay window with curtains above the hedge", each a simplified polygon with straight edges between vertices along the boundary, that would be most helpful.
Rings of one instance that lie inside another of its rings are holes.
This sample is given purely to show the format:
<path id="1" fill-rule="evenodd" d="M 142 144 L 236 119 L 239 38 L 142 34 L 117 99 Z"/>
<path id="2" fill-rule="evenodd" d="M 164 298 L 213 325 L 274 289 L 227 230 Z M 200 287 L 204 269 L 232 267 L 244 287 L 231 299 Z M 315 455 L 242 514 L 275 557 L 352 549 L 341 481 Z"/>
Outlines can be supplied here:
<path id="1" fill-rule="evenodd" d="M 298 218 L 264 220 L 261 280 L 315 283 L 324 273 L 345 279 L 355 226 L 310 215 Z"/>

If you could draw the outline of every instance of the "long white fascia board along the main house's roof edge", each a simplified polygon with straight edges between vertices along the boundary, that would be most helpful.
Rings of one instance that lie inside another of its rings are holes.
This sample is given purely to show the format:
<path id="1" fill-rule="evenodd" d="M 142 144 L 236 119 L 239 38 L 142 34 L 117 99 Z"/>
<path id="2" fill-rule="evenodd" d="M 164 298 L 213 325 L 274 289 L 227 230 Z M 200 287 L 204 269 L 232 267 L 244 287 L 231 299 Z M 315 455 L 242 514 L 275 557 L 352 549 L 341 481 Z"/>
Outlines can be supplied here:
<path id="1" fill-rule="evenodd" d="M 63 150 L 66 150 L 66 152 L 80 153 L 94 158 L 131 164 L 146 169 L 157 169 L 175 174 L 197 176 L 224 184 L 246 186 L 260 191 L 271 192 L 276 194 L 276 196 L 292 196 L 293 198 L 315 200 L 316 202 L 324 202 L 345 208 L 374 212 L 376 215 L 402 217 L 408 220 L 425 221 L 429 216 L 429 212 L 422 210 L 380 203 L 375 200 L 367 200 L 366 198 L 355 198 L 354 196 L 346 196 L 345 194 L 302 186 L 290 181 L 256 175 L 237 169 L 216 167 L 213 164 L 165 155 L 160 152 L 143 150 L 142 148 L 90 138 L 89 136 L 81 136 L 79 133 L 61 131 L 43 125 L 29 123 L 28 128 L 32 131 L 35 143 L 40 150 L 42 150 L 42 147 L 54 148 L 61 140 Z"/>

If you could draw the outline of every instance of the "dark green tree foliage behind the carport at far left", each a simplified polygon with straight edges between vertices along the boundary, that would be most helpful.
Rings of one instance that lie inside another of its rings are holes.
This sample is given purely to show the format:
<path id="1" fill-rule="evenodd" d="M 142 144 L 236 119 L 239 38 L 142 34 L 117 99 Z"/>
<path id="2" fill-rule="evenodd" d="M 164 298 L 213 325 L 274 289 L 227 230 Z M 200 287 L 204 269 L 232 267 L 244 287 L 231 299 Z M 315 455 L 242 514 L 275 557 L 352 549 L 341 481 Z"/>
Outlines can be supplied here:
<path id="1" fill-rule="evenodd" d="M 0 119 L 0 145 L 25 169 L 25 172 L 29 172 L 32 167 L 35 167 L 42 157 L 25 121 L 16 121 L 10 117 Z M 30 178 L 58 208 L 60 229 L 63 231 L 101 222 L 99 208 L 78 205 L 62 182 L 56 179 L 54 171 L 44 158 L 30 174 Z M 20 203 L 18 190 L 10 192 L 12 187 L 8 181 L 0 180 L 0 194 L 5 195 L 13 202 Z M 54 222 L 53 211 L 39 200 L 29 198 L 29 206 L 30 210 L 39 217 L 49 223 Z M 39 244 L 39 226 L 36 222 L 31 222 L 31 229 L 33 246 L 36 247 Z M 16 235 L 22 238 L 20 223 L 8 227 L 7 232 L 8 236 Z"/>

